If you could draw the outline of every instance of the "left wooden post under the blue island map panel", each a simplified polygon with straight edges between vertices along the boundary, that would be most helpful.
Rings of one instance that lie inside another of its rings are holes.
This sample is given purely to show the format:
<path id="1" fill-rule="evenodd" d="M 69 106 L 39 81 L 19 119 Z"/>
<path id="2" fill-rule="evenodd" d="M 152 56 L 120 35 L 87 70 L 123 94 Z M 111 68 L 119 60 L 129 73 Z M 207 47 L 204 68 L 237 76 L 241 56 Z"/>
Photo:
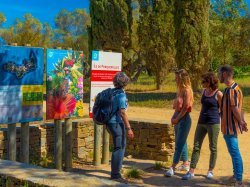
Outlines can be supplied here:
<path id="1" fill-rule="evenodd" d="M 8 124 L 8 159 L 16 161 L 16 124 Z"/>

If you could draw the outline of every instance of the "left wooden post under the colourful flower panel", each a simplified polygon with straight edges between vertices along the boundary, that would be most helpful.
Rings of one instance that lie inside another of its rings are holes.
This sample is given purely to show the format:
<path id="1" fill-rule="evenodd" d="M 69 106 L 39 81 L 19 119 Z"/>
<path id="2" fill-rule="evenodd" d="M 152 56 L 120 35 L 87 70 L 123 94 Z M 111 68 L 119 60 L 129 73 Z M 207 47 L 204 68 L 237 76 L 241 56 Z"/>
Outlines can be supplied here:
<path id="1" fill-rule="evenodd" d="M 55 148 L 54 148 L 54 163 L 58 170 L 62 170 L 62 124 L 61 120 L 54 120 L 55 126 Z"/>

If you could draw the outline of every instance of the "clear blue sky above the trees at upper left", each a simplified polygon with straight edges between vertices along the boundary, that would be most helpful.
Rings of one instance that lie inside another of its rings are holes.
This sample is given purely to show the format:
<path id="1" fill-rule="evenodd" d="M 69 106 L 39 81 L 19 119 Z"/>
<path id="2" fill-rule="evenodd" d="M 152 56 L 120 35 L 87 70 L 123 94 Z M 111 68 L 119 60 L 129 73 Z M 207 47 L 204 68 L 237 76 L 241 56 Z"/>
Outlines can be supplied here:
<path id="1" fill-rule="evenodd" d="M 55 16 L 61 9 L 73 11 L 76 8 L 88 11 L 89 0 L 0 0 L 0 12 L 7 19 L 4 27 L 12 25 L 16 18 L 22 19 L 25 13 L 54 26 Z"/>

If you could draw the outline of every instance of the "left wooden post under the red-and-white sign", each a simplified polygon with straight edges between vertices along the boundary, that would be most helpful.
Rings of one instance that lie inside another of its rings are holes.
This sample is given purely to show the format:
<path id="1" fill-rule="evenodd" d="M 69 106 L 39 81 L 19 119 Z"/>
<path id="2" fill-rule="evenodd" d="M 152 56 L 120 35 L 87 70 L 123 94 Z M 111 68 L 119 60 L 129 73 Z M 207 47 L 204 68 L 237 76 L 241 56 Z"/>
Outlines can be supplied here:
<path id="1" fill-rule="evenodd" d="M 101 165 L 102 126 L 94 123 L 94 165 Z"/>

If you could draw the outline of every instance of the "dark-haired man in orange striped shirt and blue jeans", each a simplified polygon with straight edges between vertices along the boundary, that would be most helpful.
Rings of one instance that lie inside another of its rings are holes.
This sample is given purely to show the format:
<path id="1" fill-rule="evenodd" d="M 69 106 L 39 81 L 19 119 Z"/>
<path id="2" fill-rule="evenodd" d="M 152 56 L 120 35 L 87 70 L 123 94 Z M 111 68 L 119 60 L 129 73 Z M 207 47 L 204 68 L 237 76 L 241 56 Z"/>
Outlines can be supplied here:
<path id="1" fill-rule="evenodd" d="M 247 131 L 242 113 L 243 94 L 233 80 L 233 68 L 224 65 L 219 70 L 219 79 L 227 88 L 224 90 L 221 105 L 221 131 L 233 162 L 235 186 L 243 186 L 243 162 L 238 146 L 238 135 Z"/>

